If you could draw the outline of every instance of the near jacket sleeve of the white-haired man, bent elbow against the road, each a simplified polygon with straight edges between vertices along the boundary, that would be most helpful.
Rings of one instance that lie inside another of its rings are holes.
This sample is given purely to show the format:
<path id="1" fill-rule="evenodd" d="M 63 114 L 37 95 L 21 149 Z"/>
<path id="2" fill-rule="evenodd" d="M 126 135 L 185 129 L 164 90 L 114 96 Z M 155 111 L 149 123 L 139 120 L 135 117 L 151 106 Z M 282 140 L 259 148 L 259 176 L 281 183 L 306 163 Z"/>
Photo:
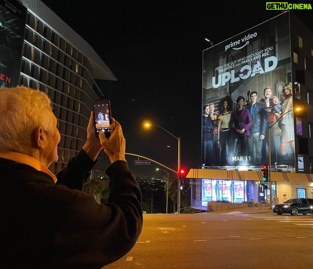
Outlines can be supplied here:
<path id="1" fill-rule="evenodd" d="M 109 202 L 97 204 L 92 195 L 75 191 L 55 237 L 60 268 L 101 268 L 124 256 L 142 229 L 141 192 L 127 163 L 115 161 Z"/>

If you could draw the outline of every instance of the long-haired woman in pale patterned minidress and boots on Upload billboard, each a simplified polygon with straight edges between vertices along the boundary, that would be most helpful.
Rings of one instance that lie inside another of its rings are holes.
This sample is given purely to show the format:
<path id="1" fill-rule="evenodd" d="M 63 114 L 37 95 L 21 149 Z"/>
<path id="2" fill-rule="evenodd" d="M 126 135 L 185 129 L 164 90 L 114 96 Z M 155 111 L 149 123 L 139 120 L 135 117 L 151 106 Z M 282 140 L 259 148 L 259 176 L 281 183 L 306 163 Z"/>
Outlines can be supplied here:
<path id="1" fill-rule="evenodd" d="M 283 159 L 283 162 L 286 165 L 291 165 L 294 163 L 290 162 L 289 155 L 286 152 L 286 147 L 288 144 L 290 145 L 292 152 L 295 152 L 295 133 L 294 133 L 293 112 L 292 112 L 293 107 L 292 107 L 292 84 L 291 82 L 288 82 L 284 85 L 283 96 L 284 96 L 284 99 L 281 102 L 281 105 L 282 105 L 281 111 L 282 111 L 282 114 L 284 115 L 277 117 L 280 119 L 284 119 L 284 124 L 282 124 L 281 135 L 280 135 L 279 152 Z"/>

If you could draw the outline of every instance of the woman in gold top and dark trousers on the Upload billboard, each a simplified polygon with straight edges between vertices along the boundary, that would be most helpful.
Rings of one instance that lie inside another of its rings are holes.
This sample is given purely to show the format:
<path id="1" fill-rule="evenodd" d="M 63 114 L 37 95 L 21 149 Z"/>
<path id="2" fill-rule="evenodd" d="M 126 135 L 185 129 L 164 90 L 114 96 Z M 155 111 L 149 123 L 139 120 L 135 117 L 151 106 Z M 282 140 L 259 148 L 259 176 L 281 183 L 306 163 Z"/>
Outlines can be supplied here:
<path id="1" fill-rule="evenodd" d="M 230 143 L 232 130 L 229 128 L 230 117 L 233 113 L 232 108 L 233 102 L 229 96 L 224 97 L 218 104 L 218 111 L 220 111 L 220 114 L 218 117 L 217 143 L 218 148 L 221 149 L 221 166 L 230 165 L 231 163 L 228 159 L 228 152 L 233 152 L 233 147 Z M 226 151 L 226 142 L 228 152 Z"/>

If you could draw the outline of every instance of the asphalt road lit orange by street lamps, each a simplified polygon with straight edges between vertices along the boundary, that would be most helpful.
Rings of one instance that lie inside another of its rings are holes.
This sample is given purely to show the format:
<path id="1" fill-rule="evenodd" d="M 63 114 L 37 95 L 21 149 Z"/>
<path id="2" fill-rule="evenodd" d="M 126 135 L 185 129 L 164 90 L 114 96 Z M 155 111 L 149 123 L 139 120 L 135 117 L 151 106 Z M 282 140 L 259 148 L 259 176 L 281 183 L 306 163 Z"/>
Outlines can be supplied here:
<path id="1" fill-rule="evenodd" d="M 133 249 L 103 268 L 312 269 L 313 216 L 145 214 Z"/>

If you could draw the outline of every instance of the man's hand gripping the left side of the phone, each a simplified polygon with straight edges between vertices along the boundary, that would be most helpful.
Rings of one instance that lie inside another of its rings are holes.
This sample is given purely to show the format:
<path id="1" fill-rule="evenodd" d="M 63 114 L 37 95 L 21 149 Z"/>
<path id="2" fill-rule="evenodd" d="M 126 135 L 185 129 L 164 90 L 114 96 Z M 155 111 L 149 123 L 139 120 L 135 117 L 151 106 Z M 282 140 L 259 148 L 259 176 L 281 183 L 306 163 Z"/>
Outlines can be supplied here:
<path id="1" fill-rule="evenodd" d="M 87 126 L 87 142 L 83 146 L 83 150 L 85 150 L 90 159 L 94 161 L 101 149 L 100 140 L 95 136 L 94 112 L 91 111 Z"/>

